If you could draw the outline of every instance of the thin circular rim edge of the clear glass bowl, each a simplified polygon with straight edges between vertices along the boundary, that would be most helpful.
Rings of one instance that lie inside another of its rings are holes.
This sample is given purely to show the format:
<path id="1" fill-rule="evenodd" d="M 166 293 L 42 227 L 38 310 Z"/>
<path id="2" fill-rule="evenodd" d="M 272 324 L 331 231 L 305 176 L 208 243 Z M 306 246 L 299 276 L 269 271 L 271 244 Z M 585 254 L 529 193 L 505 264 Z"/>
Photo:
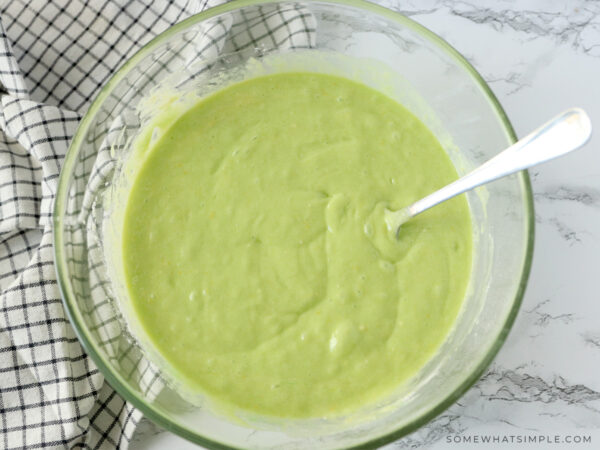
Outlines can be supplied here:
<path id="1" fill-rule="evenodd" d="M 299 3 L 307 2 L 310 3 L 313 0 L 299 0 Z M 232 449 L 234 447 L 229 447 L 220 442 L 216 442 L 214 440 L 208 439 L 206 437 L 200 436 L 188 428 L 175 423 L 167 416 L 162 414 L 158 409 L 153 407 L 151 404 L 146 402 L 146 400 L 138 395 L 137 392 L 131 390 L 128 386 L 127 381 L 121 377 L 119 373 L 112 369 L 110 363 L 104 360 L 101 351 L 98 349 L 94 339 L 91 337 L 89 330 L 85 326 L 84 319 L 77 307 L 77 302 L 75 300 L 75 296 L 71 287 L 71 283 L 69 281 L 69 273 L 67 268 L 66 255 L 63 252 L 63 242 L 64 235 L 62 230 L 62 217 L 65 212 L 65 205 L 68 195 L 68 187 L 71 179 L 71 175 L 73 173 L 74 166 L 77 161 L 77 156 L 83 142 L 84 136 L 89 129 L 89 126 L 94 118 L 95 114 L 100 108 L 102 102 L 108 97 L 111 90 L 118 84 L 118 82 L 129 72 L 129 70 L 134 67 L 138 61 L 144 58 L 154 47 L 160 45 L 163 41 L 168 39 L 170 36 L 178 33 L 179 31 L 193 26 L 197 23 L 200 23 L 206 19 L 214 17 L 216 15 L 232 12 L 237 9 L 241 9 L 248 6 L 255 6 L 261 4 L 269 4 L 269 3 L 286 3 L 286 0 L 237 0 L 234 2 L 228 2 L 220 6 L 216 6 L 214 8 L 207 9 L 199 14 L 193 15 L 176 25 L 169 27 L 167 30 L 156 36 L 150 42 L 148 42 L 145 46 L 143 46 L 136 54 L 134 54 L 129 60 L 127 60 L 123 66 L 121 66 L 114 75 L 109 79 L 109 81 L 104 85 L 104 87 L 100 90 L 97 97 L 94 99 L 90 108 L 85 113 L 73 140 L 69 146 L 68 152 L 65 156 L 63 169 L 60 174 L 58 190 L 56 194 L 55 204 L 54 204 L 54 212 L 53 212 L 53 233 L 54 233 L 54 260 L 56 265 L 56 272 L 58 278 L 58 284 L 61 291 L 62 300 L 67 311 L 67 315 L 75 329 L 75 333 L 77 334 L 79 341 L 83 345 L 85 351 L 91 356 L 94 363 L 98 366 L 100 372 L 104 375 L 106 381 L 127 401 L 131 402 L 133 406 L 139 409 L 144 416 L 148 417 L 153 422 L 157 423 L 161 427 L 165 428 L 168 431 L 171 431 L 193 443 L 202 445 L 207 448 L 214 449 Z M 289 0 L 290 3 L 293 3 L 294 0 Z M 508 120 L 508 117 L 500 102 L 487 85 L 487 83 L 483 80 L 481 75 L 475 70 L 475 68 L 450 44 L 448 44 L 445 40 L 439 37 L 437 34 L 433 33 L 429 29 L 424 26 L 418 24 L 417 22 L 409 19 L 406 16 L 403 16 L 400 13 L 397 13 L 393 10 L 387 9 L 383 6 L 379 6 L 373 3 L 369 3 L 363 0 L 325 0 L 325 1 L 314 1 L 314 3 L 324 3 L 331 5 L 341 5 L 341 6 L 350 6 L 358 9 L 363 9 L 370 13 L 374 13 L 380 16 L 385 17 L 386 19 L 395 21 L 402 26 L 405 26 L 412 31 L 420 34 L 426 40 L 428 40 L 433 45 L 437 46 L 439 49 L 443 50 L 448 56 L 450 56 L 459 66 L 461 66 L 473 79 L 473 81 L 482 89 L 483 94 L 487 97 L 487 100 L 490 103 L 493 111 L 496 113 L 498 121 L 504 128 L 504 131 L 511 142 L 516 142 L 517 138 L 514 132 L 514 129 Z M 534 242 L 534 209 L 533 209 L 533 195 L 531 190 L 531 182 L 529 179 L 529 174 L 527 171 L 522 171 L 518 174 L 519 181 L 524 194 L 524 207 L 526 212 L 526 233 L 527 233 L 527 241 L 526 241 L 526 249 L 524 252 L 524 260 L 522 266 L 521 277 L 519 280 L 519 285 L 517 289 L 517 293 L 515 298 L 513 299 L 512 307 L 510 312 L 506 318 L 506 321 L 496 336 L 496 339 L 487 350 L 484 358 L 479 362 L 476 369 L 469 374 L 469 376 L 463 380 L 463 382 L 446 398 L 440 401 L 438 404 L 434 405 L 431 409 L 421 414 L 418 418 L 412 421 L 409 424 L 406 424 L 398 429 L 388 433 L 384 436 L 380 436 L 368 442 L 364 442 L 360 445 L 357 445 L 353 448 L 362 449 L 362 448 L 375 448 L 409 434 L 410 432 L 416 430 L 417 428 L 425 425 L 427 422 L 432 420 L 434 417 L 442 413 L 448 407 L 450 407 L 458 398 L 460 398 L 483 374 L 485 369 L 490 365 L 500 347 L 504 343 L 508 332 L 510 331 L 515 317 L 519 311 L 519 307 L 521 305 L 521 301 L 523 299 L 523 295 L 525 293 L 525 288 L 527 285 L 527 280 L 529 278 L 529 273 L 531 269 L 531 262 L 533 256 L 533 242 Z"/>

